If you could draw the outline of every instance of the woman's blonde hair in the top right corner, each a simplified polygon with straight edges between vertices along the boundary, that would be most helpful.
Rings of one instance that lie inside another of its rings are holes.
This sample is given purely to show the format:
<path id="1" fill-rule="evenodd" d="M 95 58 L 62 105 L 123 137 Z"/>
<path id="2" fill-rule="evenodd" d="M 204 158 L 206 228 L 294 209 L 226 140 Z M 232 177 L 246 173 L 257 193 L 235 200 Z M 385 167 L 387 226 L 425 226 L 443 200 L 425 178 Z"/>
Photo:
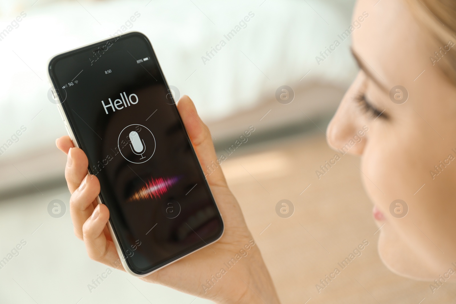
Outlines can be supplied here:
<path id="1" fill-rule="evenodd" d="M 456 44 L 456 1 L 455 0 L 406 0 L 418 23 L 423 25 L 435 42 L 447 46 L 451 41 Z M 438 51 L 438 50 L 437 50 Z M 446 51 L 446 50 L 445 50 Z M 439 67 L 450 81 L 456 85 L 456 51 L 450 48 L 442 56 Z M 439 57 L 435 56 L 437 59 Z M 431 57 L 430 57 L 431 60 Z M 432 61 L 432 60 L 431 60 Z M 440 61 L 440 60 L 439 60 Z"/>

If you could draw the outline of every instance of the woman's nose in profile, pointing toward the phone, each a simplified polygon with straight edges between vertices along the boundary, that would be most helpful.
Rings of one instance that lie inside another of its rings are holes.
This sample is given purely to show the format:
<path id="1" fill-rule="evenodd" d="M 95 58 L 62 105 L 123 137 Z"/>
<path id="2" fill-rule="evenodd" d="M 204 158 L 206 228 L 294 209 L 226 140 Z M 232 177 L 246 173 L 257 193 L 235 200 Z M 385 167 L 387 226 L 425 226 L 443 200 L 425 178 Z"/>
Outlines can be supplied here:
<path id="1" fill-rule="evenodd" d="M 368 128 L 363 125 L 365 119 L 358 109 L 358 104 L 353 100 L 361 81 L 359 76 L 345 93 L 326 129 L 329 146 L 342 150 L 344 154 L 362 155 L 367 143 L 366 129 Z"/>

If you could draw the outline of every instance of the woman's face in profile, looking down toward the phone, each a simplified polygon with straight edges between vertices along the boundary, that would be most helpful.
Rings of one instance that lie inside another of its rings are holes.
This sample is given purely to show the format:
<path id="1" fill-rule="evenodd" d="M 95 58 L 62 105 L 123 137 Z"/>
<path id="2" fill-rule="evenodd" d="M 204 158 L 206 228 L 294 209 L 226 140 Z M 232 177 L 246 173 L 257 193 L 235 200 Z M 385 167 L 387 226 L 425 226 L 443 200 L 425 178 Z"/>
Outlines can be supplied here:
<path id="1" fill-rule="evenodd" d="M 361 70 L 328 126 L 328 141 L 339 149 L 369 128 L 350 153 L 361 155 L 360 174 L 381 227 L 380 257 L 395 273 L 434 280 L 456 263 L 456 88 L 441 72 L 446 63 L 430 59 L 449 46 L 433 41 L 403 1 L 375 2 L 355 7 L 353 20 L 368 14 L 351 35 Z M 409 94 L 402 104 L 404 98 L 390 98 L 398 85 Z M 408 206 L 404 217 L 404 204 L 402 213 L 401 205 L 390 211 L 398 199 Z"/>

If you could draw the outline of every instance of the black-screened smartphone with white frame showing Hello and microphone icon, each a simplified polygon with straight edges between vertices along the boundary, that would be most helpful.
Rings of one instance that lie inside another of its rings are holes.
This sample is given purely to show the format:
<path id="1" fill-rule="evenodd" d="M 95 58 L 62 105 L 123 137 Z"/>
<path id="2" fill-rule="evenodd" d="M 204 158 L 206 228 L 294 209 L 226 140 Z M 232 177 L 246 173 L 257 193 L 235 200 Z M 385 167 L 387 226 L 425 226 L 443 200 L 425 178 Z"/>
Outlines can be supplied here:
<path id="1" fill-rule="evenodd" d="M 223 234 L 223 221 L 149 39 L 133 31 L 52 57 L 49 80 L 125 270 L 146 276 Z"/>

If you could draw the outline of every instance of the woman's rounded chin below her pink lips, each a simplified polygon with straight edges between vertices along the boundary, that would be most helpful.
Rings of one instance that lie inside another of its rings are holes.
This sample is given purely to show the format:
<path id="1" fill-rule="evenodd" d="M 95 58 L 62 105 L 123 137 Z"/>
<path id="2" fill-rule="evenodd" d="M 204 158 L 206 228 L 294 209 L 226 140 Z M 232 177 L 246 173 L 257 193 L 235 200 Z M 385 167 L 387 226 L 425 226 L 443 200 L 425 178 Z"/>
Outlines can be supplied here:
<path id="1" fill-rule="evenodd" d="M 397 233 L 381 231 L 378 239 L 378 254 L 391 272 L 414 280 L 434 281 L 439 273 L 430 269 L 425 259 L 415 252 L 416 250 L 410 249 L 408 244 L 399 239 Z"/>

